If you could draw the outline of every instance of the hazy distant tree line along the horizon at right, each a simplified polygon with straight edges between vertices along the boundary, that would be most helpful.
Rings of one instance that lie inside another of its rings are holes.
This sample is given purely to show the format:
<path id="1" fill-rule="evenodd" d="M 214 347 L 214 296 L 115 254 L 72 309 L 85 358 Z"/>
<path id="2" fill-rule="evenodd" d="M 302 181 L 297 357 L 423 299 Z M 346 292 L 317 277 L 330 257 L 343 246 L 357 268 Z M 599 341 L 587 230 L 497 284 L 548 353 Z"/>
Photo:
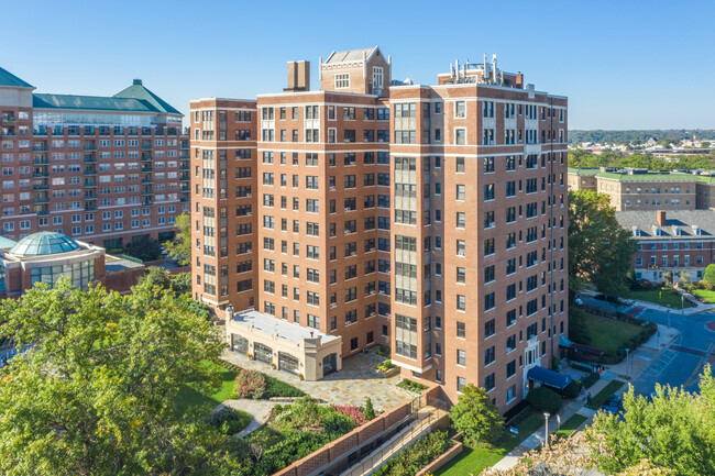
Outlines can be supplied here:
<path id="1" fill-rule="evenodd" d="M 684 139 L 697 136 L 701 141 L 715 141 L 715 130 L 712 129 L 667 129 L 667 130 L 641 130 L 641 131 L 569 131 L 569 139 L 572 143 L 581 142 L 608 142 L 612 144 L 644 144 L 650 139 L 656 142 L 668 140 L 678 143 Z"/>

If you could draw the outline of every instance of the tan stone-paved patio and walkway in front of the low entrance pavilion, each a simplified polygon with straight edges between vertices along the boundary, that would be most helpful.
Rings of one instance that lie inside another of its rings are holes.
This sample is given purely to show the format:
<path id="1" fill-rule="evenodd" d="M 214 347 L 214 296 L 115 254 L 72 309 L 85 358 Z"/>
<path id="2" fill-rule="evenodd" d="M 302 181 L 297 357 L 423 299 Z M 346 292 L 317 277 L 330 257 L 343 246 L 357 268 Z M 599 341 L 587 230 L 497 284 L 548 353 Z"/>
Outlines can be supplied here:
<path id="1" fill-rule="evenodd" d="M 373 354 L 358 354 L 343 358 L 342 369 L 328 375 L 322 380 L 305 381 L 297 376 L 271 368 L 261 362 L 251 361 L 243 354 L 227 351 L 223 359 L 242 368 L 263 372 L 266 375 L 286 381 L 311 397 L 328 403 L 364 406 L 370 397 L 376 410 L 388 410 L 403 401 L 417 397 L 396 387 L 399 377 L 384 378 L 373 367 L 381 362 Z"/>

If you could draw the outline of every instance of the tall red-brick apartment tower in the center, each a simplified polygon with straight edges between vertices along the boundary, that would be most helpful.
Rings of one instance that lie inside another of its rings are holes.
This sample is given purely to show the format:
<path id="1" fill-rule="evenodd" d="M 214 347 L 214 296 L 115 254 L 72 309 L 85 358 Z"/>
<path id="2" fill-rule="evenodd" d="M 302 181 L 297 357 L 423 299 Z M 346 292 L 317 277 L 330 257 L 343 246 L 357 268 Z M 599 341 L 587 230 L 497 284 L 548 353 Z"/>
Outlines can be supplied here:
<path id="1" fill-rule="evenodd" d="M 292 62 L 283 92 L 191 102 L 195 295 L 342 357 L 388 345 L 404 376 L 506 411 L 568 331 L 568 100 L 496 59 L 436 86 L 391 69 L 333 52 L 319 90 Z"/>

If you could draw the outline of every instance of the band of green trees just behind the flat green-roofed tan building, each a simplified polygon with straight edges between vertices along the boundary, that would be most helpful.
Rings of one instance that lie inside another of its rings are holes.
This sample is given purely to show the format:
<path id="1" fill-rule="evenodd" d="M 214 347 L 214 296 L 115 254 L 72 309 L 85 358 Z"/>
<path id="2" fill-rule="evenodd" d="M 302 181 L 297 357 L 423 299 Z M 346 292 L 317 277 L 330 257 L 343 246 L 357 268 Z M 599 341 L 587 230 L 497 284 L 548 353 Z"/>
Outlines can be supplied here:
<path id="1" fill-rule="evenodd" d="M 627 155 L 618 151 L 604 151 L 594 154 L 590 151 L 575 150 L 569 152 L 569 167 L 634 167 L 649 170 L 674 169 L 715 169 L 715 155 L 679 155 L 664 158 L 652 154 Z"/>

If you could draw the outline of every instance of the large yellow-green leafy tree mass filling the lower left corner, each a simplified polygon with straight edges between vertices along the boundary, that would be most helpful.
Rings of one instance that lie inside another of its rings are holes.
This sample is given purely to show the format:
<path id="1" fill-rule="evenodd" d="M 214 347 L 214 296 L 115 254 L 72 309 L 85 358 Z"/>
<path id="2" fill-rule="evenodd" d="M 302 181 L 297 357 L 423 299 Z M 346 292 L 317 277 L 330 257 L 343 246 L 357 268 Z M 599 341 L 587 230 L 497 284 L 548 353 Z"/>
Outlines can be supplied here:
<path id="1" fill-rule="evenodd" d="M 226 474 L 230 441 L 179 414 L 187 381 L 218 388 L 215 328 L 144 283 L 121 297 L 62 279 L 0 303 L 0 335 L 31 344 L 0 369 L 3 475 Z"/>

